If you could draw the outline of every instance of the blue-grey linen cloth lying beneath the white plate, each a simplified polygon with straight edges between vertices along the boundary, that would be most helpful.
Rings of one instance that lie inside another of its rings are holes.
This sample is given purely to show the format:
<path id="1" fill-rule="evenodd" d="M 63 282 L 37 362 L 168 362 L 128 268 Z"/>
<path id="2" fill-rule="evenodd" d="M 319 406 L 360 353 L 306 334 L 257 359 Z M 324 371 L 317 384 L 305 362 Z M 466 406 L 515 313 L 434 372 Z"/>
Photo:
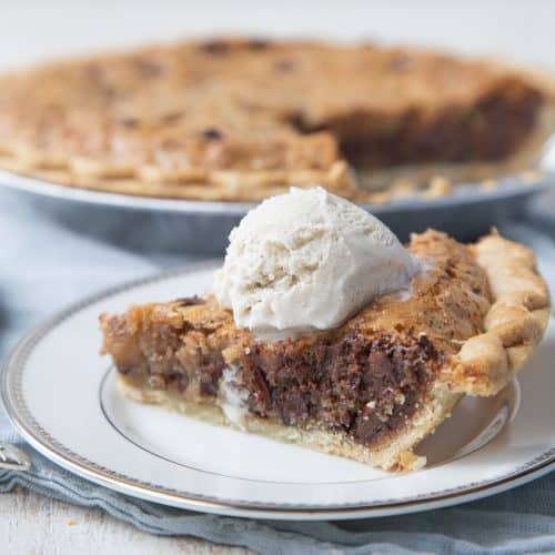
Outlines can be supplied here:
<path id="1" fill-rule="evenodd" d="M 0 191 L 0 360 L 16 341 L 60 305 L 101 287 L 182 265 L 181 256 L 149 255 L 67 231 Z M 555 289 L 555 243 L 529 223 L 502 232 L 534 248 Z M 79 478 L 28 446 L 0 408 L 0 443 L 32 458 L 27 473 L 1 472 L 0 493 L 19 485 L 75 505 L 100 507 L 159 535 L 189 535 L 259 553 L 539 553 L 555 551 L 555 474 L 454 508 L 352 522 L 279 522 L 175 509 L 118 494 Z"/>

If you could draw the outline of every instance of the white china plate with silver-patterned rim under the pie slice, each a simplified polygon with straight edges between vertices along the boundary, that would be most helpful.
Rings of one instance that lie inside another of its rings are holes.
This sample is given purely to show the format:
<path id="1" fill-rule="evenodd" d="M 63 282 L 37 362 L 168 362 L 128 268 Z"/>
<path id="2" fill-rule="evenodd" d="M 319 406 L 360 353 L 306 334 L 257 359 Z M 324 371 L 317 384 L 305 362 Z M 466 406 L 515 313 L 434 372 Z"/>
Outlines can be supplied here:
<path id="1" fill-rule="evenodd" d="M 350 518 L 453 505 L 523 484 L 555 465 L 555 326 L 493 398 L 466 398 L 418 450 L 430 466 L 390 474 L 124 400 L 99 355 L 101 312 L 205 291 L 214 263 L 123 285 L 32 332 L 2 372 L 21 434 L 81 476 L 158 503 L 238 516 Z"/>

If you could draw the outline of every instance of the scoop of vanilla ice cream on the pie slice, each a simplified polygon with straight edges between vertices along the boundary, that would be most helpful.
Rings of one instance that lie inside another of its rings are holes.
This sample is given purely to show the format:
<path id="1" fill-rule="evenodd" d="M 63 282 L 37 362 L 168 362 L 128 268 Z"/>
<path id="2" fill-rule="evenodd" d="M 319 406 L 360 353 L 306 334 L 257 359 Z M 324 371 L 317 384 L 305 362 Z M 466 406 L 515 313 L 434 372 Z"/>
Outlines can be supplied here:
<path id="1" fill-rule="evenodd" d="M 214 292 L 239 327 L 289 336 L 341 325 L 377 295 L 406 286 L 417 269 L 363 209 L 321 188 L 291 189 L 231 232 Z"/>

